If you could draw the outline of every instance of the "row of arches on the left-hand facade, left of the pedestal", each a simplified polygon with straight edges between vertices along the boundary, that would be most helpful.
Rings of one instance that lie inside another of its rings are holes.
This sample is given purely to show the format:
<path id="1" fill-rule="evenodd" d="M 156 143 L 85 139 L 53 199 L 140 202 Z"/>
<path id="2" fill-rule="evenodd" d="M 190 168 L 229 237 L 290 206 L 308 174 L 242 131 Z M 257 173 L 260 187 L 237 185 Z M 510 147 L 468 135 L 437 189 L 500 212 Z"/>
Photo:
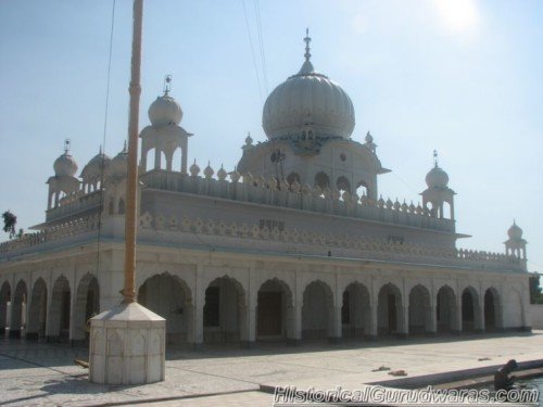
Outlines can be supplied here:
<path id="1" fill-rule="evenodd" d="M 52 290 L 41 277 L 31 290 L 24 280 L 13 292 L 4 282 L 0 289 L 0 332 L 13 338 L 85 340 L 88 319 L 100 311 L 98 279 L 85 276 L 73 295 L 64 276 L 54 281 Z"/>

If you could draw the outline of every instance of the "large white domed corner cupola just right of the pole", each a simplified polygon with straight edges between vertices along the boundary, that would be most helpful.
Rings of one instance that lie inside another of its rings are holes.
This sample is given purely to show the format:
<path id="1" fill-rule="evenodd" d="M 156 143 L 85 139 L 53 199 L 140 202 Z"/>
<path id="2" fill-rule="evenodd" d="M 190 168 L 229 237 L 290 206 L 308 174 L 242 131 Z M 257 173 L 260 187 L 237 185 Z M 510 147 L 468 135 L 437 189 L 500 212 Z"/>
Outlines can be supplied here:
<path id="1" fill-rule="evenodd" d="M 172 76 L 164 79 L 164 94 L 156 98 L 149 107 L 151 126 L 147 126 L 141 138 L 140 174 L 151 170 L 181 171 L 187 174 L 188 138 L 192 136 L 179 126 L 182 110 L 177 101 L 169 96 Z M 175 168 L 174 153 L 181 149 L 181 163 Z M 148 163 L 148 153 L 154 150 L 154 165 Z M 162 155 L 166 158 L 162 163 Z"/>

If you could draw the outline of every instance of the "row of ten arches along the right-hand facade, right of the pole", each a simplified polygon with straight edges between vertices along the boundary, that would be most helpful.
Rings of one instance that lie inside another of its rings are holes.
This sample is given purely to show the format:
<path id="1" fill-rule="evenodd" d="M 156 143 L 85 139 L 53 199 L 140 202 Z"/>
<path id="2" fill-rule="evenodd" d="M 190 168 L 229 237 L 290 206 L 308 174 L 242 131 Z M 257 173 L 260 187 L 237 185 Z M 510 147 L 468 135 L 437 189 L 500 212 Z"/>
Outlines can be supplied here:
<path id="1" fill-rule="evenodd" d="M 171 343 L 190 342 L 198 314 L 193 309 L 192 293 L 181 279 L 168 274 L 155 275 L 141 285 L 138 298 L 166 318 Z M 296 304 L 289 285 L 277 278 L 269 279 L 258 288 L 256 298 L 256 340 L 295 339 Z M 205 289 L 203 303 L 202 342 L 244 339 L 247 313 L 251 310 L 247 293 L 236 279 L 213 280 Z M 339 309 L 334 304 L 334 295 L 326 282 L 315 280 L 305 287 L 300 304 L 302 340 L 495 331 L 502 327 L 502 305 L 493 288 L 484 293 L 483 316 L 479 316 L 482 309 L 479 295 L 471 287 L 463 291 L 462 302 L 449 285 L 441 287 L 432 301 L 429 290 L 419 284 L 411 290 L 408 302 L 405 302 L 401 290 L 387 283 L 372 306 L 368 289 L 353 282 L 343 291 Z"/>

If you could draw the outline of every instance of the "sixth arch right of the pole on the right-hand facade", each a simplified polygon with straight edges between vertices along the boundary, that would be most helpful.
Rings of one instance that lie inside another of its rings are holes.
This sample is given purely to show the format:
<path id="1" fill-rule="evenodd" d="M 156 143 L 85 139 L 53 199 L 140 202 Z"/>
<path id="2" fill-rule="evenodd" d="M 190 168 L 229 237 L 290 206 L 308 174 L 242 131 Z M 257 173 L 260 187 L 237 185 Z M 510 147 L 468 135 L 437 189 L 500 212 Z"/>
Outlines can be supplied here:
<path id="1" fill-rule="evenodd" d="M 387 283 L 381 287 L 377 305 L 378 334 L 387 335 L 402 332 L 402 293 L 400 289 Z"/>

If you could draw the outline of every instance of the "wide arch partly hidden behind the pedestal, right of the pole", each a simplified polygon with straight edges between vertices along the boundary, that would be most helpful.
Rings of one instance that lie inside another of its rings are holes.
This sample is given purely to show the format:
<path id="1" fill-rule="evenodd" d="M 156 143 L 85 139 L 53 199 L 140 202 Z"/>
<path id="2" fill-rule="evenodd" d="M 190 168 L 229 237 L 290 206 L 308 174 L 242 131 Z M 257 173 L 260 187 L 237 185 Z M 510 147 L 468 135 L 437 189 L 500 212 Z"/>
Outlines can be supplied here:
<path id="1" fill-rule="evenodd" d="M 138 302 L 166 319 L 166 343 L 182 344 L 192 332 L 192 296 L 187 283 L 167 272 L 148 278 Z"/>

